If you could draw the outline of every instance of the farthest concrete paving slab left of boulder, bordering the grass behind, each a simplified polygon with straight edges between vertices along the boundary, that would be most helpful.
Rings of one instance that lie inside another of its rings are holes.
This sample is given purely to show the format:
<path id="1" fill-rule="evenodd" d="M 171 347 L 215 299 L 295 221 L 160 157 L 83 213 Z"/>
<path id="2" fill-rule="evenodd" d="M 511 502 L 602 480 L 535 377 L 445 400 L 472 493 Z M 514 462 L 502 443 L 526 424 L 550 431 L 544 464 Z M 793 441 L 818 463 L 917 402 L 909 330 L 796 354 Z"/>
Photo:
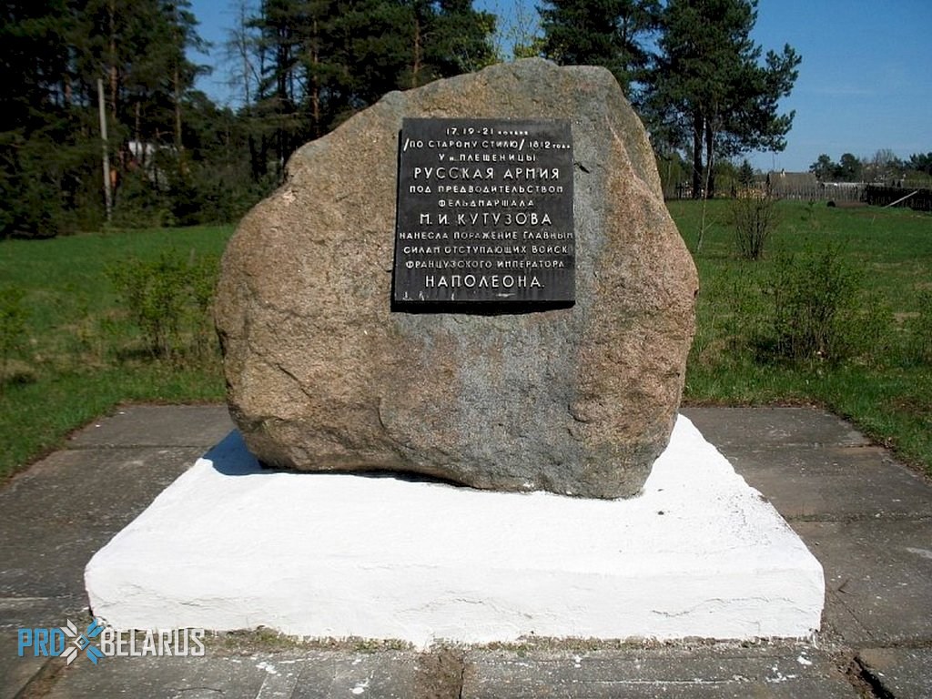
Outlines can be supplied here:
<path id="1" fill-rule="evenodd" d="M 75 432 L 75 446 L 200 446 L 205 450 L 234 429 L 226 405 L 121 405 Z"/>

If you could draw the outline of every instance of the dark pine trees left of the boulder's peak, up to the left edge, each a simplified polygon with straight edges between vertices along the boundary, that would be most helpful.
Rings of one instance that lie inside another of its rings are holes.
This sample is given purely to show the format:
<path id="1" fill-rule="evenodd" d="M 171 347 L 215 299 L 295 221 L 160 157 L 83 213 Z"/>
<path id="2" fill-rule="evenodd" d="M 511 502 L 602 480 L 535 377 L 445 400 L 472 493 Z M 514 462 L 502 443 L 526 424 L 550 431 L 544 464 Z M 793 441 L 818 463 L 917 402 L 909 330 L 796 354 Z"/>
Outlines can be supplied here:
<path id="1" fill-rule="evenodd" d="M 187 0 L 11 0 L 0 9 L 0 237 L 110 217 L 235 220 L 281 182 L 299 144 L 391 89 L 491 62 L 493 30 L 467 0 L 241 5 L 227 47 L 233 110 L 196 89 L 208 69 L 188 58 L 203 42 Z"/>

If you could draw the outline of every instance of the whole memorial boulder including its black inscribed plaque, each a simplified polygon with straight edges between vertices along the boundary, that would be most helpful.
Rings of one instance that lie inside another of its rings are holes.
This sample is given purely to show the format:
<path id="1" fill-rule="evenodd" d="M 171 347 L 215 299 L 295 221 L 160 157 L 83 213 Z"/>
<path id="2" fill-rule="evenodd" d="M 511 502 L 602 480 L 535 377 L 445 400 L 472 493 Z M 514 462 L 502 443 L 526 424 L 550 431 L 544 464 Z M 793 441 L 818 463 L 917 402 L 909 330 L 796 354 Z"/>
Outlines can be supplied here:
<path id="1" fill-rule="evenodd" d="M 608 71 L 531 59 L 392 92 L 300 148 L 230 241 L 230 412 L 268 466 L 632 496 L 697 287 Z"/>

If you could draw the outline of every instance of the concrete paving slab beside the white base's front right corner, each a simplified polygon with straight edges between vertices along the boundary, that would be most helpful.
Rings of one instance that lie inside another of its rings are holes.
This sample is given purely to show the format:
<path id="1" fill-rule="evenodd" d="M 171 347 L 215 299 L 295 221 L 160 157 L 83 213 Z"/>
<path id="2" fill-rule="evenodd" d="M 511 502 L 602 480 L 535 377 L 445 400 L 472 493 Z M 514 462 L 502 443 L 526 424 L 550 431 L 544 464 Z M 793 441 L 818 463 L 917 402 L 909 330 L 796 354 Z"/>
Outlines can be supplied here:
<path id="1" fill-rule="evenodd" d="M 854 647 L 932 643 L 932 521 L 794 522 L 821 561 L 829 624 Z M 850 612 L 833 615 L 836 605 Z M 857 624 L 851 624 L 854 618 Z"/>

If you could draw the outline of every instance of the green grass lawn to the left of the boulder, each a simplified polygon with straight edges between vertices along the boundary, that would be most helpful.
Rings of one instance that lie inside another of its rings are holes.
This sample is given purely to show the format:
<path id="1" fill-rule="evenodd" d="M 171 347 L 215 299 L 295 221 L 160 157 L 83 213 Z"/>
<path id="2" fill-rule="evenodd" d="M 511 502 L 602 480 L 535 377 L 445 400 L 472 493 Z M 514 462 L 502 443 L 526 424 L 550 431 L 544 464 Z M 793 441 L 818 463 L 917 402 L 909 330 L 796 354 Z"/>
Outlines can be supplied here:
<path id="1" fill-rule="evenodd" d="M 202 226 L 0 240 L 0 293 L 23 291 L 28 312 L 24 341 L 0 377 L 0 480 L 121 401 L 223 400 L 216 350 L 196 360 L 148 357 L 105 270 L 170 250 L 216 258 L 231 233 Z"/>

